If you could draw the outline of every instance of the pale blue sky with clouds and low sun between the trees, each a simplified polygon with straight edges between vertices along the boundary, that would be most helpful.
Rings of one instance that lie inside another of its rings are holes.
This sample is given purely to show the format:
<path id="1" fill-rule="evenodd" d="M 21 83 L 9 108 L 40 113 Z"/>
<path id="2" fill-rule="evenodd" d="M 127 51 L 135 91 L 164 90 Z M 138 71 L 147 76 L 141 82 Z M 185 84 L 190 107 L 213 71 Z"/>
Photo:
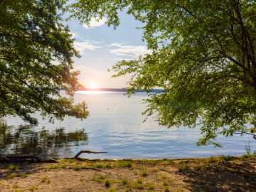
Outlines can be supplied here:
<path id="1" fill-rule="evenodd" d="M 81 58 L 73 58 L 73 66 L 80 70 L 78 78 L 85 87 L 127 87 L 126 82 L 130 76 L 111 78 L 114 72 L 107 72 L 107 69 L 111 69 L 119 60 L 137 59 L 139 55 L 150 53 L 146 42 L 142 41 L 142 29 L 136 28 L 142 26 L 142 23 L 125 12 L 119 13 L 119 18 L 120 24 L 116 30 L 105 24 L 105 17 L 100 22 L 92 18 L 90 27 L 81 25 L 75 19 L 67 22 L 75 38 L 74 46 L 81 55 Z"/>

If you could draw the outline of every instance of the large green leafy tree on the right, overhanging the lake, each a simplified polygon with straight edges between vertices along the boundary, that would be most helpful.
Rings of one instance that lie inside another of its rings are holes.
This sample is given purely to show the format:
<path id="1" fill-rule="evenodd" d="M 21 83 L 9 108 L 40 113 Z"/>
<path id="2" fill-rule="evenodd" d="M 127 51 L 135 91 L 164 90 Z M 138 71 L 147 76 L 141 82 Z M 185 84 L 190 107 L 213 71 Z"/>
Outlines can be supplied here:
<path id="1" fill-rule="evenodd" d="M 115 28 L 119 11 L 144 23 L 143 38 L 153 53 L 112 70 L 114 77 L 133 74 L 128 95 L 147 90 L 144 114 L 156 112 L 159 124 L 200 126 L 200 145 L 220 146 L 214 142 L 218 134 L 255 132 L 255 1 L 78 0 L 69 10 L 85 23 L 107 16 Z M 153 93 L 154 87 L 164 91 Z"/>

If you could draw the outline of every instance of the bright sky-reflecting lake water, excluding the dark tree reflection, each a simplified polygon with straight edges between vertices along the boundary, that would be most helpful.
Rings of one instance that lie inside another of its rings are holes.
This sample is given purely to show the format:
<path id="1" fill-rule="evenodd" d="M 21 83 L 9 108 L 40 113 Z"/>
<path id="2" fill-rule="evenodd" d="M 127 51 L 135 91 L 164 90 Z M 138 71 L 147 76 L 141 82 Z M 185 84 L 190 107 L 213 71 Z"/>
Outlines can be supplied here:
<path id="1" fill-rule="evenodd" d="M 252 137 L 234 135 L 219 137 L 217 142 L 223 148 L 213 146 L 196 146 L 201 138 L 198 128 L 161 127 L 152 117 L 143 123 L 142 112 L 146 105 L 142 100 L 146 93 L 138 92 L 132 97 L 124 96 L 124 92 L 76 92 L 75 103 L 85 100 L 90 117 L 84 120 L 66 117 L 63 122 L 50 124 L 40 120 L 37 129 L 55 130 L 64 127 L 65 132 L 85 129 L 88 140 L 85 144 L 70 145 L 70 149 L 59 150 L 58 157 L 75 156 L 81 150 L 107 151 L 107 154 L 82 154 L 84 158 L 100 159 L 176 159 L 245 154 L 245 142 L 255 149 Z M 37 117 L 40 118 L 37 114 Z M 17 117 L 6 119 L 9 125 L 23 124 Z"/>

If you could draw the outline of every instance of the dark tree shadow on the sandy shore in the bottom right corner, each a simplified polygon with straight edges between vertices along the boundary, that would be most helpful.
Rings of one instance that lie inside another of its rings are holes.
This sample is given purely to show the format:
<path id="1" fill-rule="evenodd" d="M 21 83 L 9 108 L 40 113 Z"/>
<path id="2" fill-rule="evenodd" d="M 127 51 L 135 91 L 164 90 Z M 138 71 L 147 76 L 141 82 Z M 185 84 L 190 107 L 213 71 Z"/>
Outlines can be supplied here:
<path id="1" fill-rule="evenodd" d="M 177 174 L 185 176 L 190 191 L 256 191 L 255 158 L 213 159 L 179 165 Z"/>

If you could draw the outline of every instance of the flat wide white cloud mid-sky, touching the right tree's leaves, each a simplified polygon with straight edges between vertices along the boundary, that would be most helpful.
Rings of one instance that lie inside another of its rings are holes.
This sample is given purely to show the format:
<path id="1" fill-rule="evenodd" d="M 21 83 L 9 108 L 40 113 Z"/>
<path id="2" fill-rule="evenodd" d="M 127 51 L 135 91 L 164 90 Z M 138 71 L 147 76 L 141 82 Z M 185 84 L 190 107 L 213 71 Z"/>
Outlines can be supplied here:
<path id="1" fill-rule="evenodd" d="M 152 51 L 148 50 L 146 46 L 124 46 L 124 43 L 112 43 L 110 47 L 118 47 L 116 49 L 111 49 L 110 53 L 118 56 L 130 56 L 138 58 L 139 55 L 150 54 Z"/>

